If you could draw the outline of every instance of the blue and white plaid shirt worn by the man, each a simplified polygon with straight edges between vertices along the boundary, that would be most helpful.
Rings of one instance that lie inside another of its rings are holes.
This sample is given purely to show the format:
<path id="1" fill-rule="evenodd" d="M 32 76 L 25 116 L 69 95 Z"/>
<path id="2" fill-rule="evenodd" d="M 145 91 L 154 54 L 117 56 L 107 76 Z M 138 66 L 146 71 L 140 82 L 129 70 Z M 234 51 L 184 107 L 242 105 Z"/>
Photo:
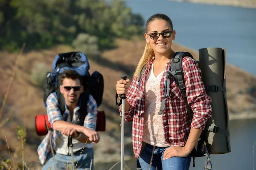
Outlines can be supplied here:
<path id="1" fill-rule="evenodd" d="M 78 106 L 74 109 L 73 119 L 79 118 L 79 106 L 81 106 L 81 101 L 79 100 Z M 67 105 L 65 105 L 66 111 L 64 112 L 63 116 L 61 115 L 60 110 L 58 109 L 58 99 L 57 94 L 52 93 L 47 98 L 47 115 L 50 124 L 52 125 L 53 122 L 58 120 L 67 120 L 69 116 L 69 110 L 67 109 Z M 89 99 L 87 102 L 87 115 L 84 119 L 84 127 L 88 129 L 96 130 L 96 119 L 97 119 L 97 103 L 95 99 L 93 99 L 92 95 L 89 95 Z M 41 164 L 45 164 L 49 156 L 51 155 L 51 145 L 52 148 L 55 148 L 55 141 L 60 134 L 57 130 L 50 130 L 41 144 L 38 147 L 38 156 Z M 93 144 L 86 144 L 87 148 L 93 147 Z"/>

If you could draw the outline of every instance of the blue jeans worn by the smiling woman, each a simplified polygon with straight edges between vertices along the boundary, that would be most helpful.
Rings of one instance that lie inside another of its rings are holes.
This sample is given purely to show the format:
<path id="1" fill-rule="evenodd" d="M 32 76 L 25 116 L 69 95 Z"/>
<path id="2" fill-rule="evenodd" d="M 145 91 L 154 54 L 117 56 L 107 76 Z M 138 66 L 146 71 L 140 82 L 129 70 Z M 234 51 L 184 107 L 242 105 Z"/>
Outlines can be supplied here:
<path id="1" fill-rule="evenodd" d="M 163 153 L 168 147 L 155 147 L 151 144 L 143 143 L 142 150 L 139 156 L 139 162 L 142 170 L 188 170 L 190 166 L 191 156 L 185 158 L 182 157 L 172 157 L 163 160 Z M 150 161 L 152 157 L 152 152 L 154 149 L 152 164 L 150 166 Z"/>

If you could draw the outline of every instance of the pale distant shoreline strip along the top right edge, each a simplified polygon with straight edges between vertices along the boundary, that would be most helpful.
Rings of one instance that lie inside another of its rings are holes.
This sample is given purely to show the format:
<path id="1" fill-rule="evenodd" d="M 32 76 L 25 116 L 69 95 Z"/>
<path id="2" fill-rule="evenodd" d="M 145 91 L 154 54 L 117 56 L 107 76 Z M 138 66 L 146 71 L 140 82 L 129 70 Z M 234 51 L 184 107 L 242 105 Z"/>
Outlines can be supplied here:
<path id="1" fill-rule="evenodd" d="M 235 6 L 242 8 L 256 8 L 256 0 L 169 0 L 218 6 Z"/>

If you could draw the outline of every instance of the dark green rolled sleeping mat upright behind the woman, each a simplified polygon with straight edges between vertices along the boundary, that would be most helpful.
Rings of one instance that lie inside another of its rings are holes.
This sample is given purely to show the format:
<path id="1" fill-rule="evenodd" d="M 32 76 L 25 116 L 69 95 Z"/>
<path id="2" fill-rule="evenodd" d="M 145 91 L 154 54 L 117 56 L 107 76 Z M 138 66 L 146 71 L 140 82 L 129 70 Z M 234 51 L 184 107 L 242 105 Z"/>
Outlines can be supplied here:
<path id="1" fill-rule="evenodd" d="M 210 154 L 231 152 L 226 92 L 226 48 L 199 49 L 200 69 L 206 93 L 212 98 L 212 119 L 207 121 L 205 142 Z"/>

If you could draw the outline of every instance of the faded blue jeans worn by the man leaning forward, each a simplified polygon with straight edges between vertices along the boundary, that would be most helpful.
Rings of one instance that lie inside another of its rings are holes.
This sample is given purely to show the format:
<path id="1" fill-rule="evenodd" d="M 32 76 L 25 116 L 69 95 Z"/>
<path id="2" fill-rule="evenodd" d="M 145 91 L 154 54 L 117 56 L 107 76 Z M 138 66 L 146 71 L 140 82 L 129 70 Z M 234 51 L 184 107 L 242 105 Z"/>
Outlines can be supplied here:
<path id="1" fill-rule="evenodd" d="M 80 156 L 79 151 L 74 153 L 74 163 L 75 163 L 76 170 L 93 170 L 93 148 L 89 148 L 89 149 L 84 148 L 80 158 L 79 156 Z M 72 169 L 71 155 L 62 155 L 59 153 L 55 153 L 54 159 L 55 159 L 56 167 L 58 170 Z M 90 169 L 91 160 L 92 160 L 92 167 Z M 49 167 L 51 167 L 51 170 L 56 170 L 55 163 L 54 163 L 53 157 L 51 156 L 47 161 L 47 163 L 44 164 L 44 167 L 42 170 L 49 170 Z M 76 166 L 76 163 L 77 163 L 77 166 Z"/>

